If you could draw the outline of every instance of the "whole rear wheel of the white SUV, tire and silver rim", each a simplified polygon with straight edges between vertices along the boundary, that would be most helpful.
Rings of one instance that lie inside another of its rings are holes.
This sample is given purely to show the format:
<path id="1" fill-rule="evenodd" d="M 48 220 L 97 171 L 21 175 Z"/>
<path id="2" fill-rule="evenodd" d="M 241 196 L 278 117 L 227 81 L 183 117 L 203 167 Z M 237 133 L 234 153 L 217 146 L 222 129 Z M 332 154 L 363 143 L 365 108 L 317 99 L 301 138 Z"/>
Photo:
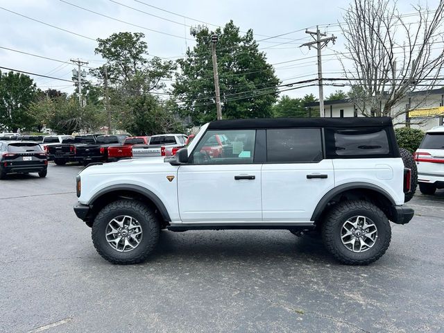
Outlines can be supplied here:
<path id="1" fill-rule="evenodd" d="M 327 214 L 322 236 L 327 250 L 343 264 L 366 265 L 386 252 L 391 227 L 384 212 L 373 203 L 344 201 Z"/>

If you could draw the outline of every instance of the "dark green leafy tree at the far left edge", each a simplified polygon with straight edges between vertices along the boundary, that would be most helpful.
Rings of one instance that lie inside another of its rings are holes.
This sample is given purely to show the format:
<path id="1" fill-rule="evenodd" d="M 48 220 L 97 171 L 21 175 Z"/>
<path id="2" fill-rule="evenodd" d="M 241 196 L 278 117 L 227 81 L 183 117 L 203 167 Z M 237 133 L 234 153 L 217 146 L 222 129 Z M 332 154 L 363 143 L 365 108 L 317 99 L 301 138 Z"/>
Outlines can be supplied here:
<path id="1" fill-rule="evenodd" d="M 13 132 L 19 128 L 33 128 L 35 119 L 28 110 L 36 99 L 37 87 L 32 78 L 0 71 L 0 127 Z"/>

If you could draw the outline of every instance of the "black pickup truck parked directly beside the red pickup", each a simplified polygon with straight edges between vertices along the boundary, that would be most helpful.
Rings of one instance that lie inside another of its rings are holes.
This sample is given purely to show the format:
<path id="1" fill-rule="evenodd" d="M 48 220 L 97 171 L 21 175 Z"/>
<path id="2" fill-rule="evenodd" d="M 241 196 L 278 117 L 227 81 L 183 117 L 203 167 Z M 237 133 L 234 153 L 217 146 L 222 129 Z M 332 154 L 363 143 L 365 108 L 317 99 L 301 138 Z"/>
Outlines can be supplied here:
<path id="1" fill-rule="evenodd" d="M 90 144 L 76 146 L 76 160 L 87 165 L 108 160 L 108 147 L 121 146 L 128 135 L 99 135 Z"/>

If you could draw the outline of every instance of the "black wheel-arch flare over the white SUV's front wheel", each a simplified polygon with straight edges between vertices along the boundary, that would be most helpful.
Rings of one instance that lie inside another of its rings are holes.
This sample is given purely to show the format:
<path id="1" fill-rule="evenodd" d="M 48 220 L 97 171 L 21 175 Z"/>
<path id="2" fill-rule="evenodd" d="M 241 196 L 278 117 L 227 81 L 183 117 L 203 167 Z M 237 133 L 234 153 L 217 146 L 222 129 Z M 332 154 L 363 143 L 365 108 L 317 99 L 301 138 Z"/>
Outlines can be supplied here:
<path id="1" fill-rule="evenodd" d="M 111 185 L 94 194 L 89 200 L 89 206 L 92 207 L 92 214 L 95 216 L 105 205 L 119 198 L 140 200 L 156 210 L 164 223 L 171 221 L 167 208 L 156 194 L 149 189 L 131 184 Z M 91 217 L 94 218 L 94 216 Z"/>

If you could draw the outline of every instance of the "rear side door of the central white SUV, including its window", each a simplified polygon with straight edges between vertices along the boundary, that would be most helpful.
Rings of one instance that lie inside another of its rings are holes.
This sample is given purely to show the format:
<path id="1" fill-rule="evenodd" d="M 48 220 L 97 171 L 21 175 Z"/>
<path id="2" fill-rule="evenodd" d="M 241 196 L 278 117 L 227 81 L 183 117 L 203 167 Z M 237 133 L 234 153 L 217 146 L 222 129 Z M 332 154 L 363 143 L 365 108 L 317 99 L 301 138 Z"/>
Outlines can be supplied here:
<path id="1" fill-rule="evenodd" d="M 324 158 L 321 128 L 266 130 L 262 167 L 262 219 L 309 222 L 323 195 L 334 187 L 332 160 Z"/>

